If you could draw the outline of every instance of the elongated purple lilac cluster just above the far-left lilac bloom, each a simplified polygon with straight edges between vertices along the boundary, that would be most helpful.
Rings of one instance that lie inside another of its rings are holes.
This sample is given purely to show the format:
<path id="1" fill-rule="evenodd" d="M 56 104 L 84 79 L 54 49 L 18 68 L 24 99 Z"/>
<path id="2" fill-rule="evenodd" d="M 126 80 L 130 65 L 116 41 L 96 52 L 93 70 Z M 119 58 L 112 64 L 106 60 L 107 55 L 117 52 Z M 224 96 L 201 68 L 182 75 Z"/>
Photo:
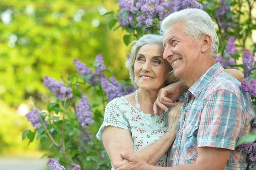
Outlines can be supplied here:
<path id="1" fill-rule="evenodd" d="M 51 92 L 54 92 L 58 99 L 64 101 L 65 98 L 72 98 L 72 89 L 70 87 L 63 86 L 62 81 L 56 81 L 55 78 L 50 78 L 48 75 L 44 76 L 43 81 L 44 86 L 46 86 Z"/>

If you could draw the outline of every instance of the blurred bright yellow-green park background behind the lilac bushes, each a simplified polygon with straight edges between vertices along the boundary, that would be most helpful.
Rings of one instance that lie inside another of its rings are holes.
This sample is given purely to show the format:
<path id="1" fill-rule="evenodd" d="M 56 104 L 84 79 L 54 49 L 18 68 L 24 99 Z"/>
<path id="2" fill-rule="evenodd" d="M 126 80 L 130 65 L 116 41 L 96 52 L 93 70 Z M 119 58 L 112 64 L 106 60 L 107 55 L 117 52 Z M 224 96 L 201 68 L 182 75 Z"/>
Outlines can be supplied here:
<path id="1" fill-rule="evenodd" d="M 234 4 L 242 0 L 227 1 Z M 200 2 L 209 5 L 213 0 Z M 254 55 L 256 43 L 255 2 L 250 14 L 244 2 L 240 9 L 230 8 L 234 13 L 241 12 L 240 23 L 249 32 L 242 46 L 236 40 L 240 56 L 243 47 Z M 76 72 L 73 58 L 90 66 L 101 53 L 107 77 L 114 75 L 119 81 L 129 81 L 125 67 L 129 48 L 123 42 L 123 36 L 129 33 L 121 28 L 110 30 L 109 21 L 114 16 L 102 16 L 118 9 L 114 0 L 0 0 L 0 169 L 20 160 L 27 170 L 33 162 L 45 164 L 38 170 L 49 169 L 45 157 L 38 161 L 49 152 L 40 140 L 29 145 L 28 138 L 22 140 L 23 132 L 33 129 L 25 117 L 33 107 L 32 101 L 41 110 L 57 101 L 42 84 L 45 75 L 59 81 Z M 230 25 L 231 29 L 235 27 Z M 228 37 L 222 39 L 225 45 Z M 236 64 L 242 64 L 241 57 Z M 91 91 L 86 95 L 91 105 L 101 100 Z"/>

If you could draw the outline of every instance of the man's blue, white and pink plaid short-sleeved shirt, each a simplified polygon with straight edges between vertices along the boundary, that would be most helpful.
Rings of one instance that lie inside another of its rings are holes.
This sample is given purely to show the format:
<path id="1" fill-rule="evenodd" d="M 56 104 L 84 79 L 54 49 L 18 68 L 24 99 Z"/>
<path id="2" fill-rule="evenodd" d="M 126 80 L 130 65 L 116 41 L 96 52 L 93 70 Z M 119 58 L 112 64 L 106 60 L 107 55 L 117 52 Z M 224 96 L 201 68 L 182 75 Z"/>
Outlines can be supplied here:
<path id="1" fill-rule="evenodd" d="M 247 167 L 245 153 L 235 150 L 240 134 L 248 133 L 256 114 L 240 83 L 216 63 L 186 93 L 168 167 L 195 163 L 198 147 L 231 151 L 225 170 Z"/>

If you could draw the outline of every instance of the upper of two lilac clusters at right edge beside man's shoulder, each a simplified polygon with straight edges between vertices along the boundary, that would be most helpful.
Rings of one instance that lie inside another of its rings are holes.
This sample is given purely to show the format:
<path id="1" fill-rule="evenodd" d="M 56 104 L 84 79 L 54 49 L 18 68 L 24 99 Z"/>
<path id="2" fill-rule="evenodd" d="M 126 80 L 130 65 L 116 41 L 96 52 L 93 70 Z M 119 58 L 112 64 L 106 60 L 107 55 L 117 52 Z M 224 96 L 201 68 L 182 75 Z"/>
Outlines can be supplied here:
<path id="1" fill-rule="evenodd" d="M 243 65 L 245 66 L 243 71 L 244 78 L 248 79 L 248 77 L 251 74 L 253 74 L 253 72 L 255 72 L 255 70 L 249 72 L 250 69 L 253 69 L 253 64 L 255 62 L 255 59 L 253 54 L 247 49 L 244 49 L 242 58 L 243 58 Z"/>

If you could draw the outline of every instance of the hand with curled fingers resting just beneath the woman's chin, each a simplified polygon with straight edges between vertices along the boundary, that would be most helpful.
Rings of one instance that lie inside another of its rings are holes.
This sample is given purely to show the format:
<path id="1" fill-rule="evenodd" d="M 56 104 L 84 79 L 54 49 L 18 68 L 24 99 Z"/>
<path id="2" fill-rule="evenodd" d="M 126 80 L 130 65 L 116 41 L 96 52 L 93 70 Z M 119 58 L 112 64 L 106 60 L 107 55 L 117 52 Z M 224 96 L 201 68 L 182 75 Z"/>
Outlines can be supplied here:
<path id="1" fill-rule="evenodd" d="M 168 111 L 169 106 L 174 106 L 174 102 L 180 97 L 181 93 L 186 92 L 188 86 L 183 81 L 170 84 L 159 90 L 157 100 L 154 102 L 154 114 Z"/>

